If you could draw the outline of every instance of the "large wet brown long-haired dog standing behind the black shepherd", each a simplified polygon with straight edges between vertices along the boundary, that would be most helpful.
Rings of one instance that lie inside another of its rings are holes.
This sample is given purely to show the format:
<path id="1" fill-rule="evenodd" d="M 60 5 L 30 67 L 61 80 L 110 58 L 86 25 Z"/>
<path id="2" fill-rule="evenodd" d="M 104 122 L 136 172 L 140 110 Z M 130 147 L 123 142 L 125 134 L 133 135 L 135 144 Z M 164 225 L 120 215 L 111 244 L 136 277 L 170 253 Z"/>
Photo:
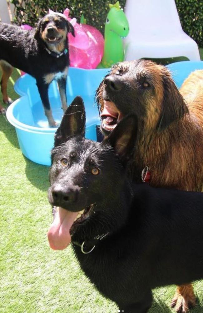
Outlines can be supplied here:
<path id="1" fill-rule="evenodd" d="M 203 70 L 191 74 L 179 92 L 165 66 L 122 62 L 101 82 L 96 99 L 104 134 L 129 113 L 139 117 L 130 168 L 135 181 L 149 167 L 152 186 L 203 191 Z M 180 313 L 194 304 L 192 285 L 179 286 L 172 307 Z"/>

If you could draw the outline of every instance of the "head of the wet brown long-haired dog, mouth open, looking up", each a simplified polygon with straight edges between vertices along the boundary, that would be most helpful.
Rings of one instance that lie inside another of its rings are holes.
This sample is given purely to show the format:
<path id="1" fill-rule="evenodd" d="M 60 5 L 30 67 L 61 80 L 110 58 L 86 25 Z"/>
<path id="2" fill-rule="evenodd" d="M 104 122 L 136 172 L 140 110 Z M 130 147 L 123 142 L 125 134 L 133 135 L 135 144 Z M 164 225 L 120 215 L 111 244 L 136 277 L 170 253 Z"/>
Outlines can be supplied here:
<path id="1" fill-rule="evenodd" d="M 162 131 L 188 112 L 169 70 L 146 60 L 113 65 L 97 89 L 96 100 L 105 134 L 129 113 L 139 117 L 145 131 Z"/>

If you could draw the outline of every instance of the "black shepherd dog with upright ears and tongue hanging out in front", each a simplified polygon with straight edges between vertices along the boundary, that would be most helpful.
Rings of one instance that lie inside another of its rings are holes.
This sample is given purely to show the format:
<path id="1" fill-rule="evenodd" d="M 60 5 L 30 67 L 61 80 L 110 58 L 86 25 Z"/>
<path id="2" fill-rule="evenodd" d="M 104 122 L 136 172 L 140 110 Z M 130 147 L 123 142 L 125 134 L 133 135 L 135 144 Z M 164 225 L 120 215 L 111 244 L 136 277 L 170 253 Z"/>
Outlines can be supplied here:
<path id="1" fill-rule="evenodd" d="M 203 278 L 203 194 L 129 181 L 137 122 L 128 115 L 103 142 L 84 139 L 76 98 L 55 135 L 48 192 L 59 207 L 51 248 L 72 240 L 85 274 L 124 313 L 147 312 L 157 286 Z"/>

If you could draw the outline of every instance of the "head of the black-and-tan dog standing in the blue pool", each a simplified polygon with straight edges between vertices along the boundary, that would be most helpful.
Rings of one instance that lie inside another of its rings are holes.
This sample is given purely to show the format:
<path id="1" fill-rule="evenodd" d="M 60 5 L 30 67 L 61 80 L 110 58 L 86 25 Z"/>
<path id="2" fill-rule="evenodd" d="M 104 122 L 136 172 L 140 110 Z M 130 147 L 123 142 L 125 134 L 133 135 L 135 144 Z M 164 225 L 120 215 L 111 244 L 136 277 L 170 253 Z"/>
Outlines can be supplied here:
<path id="1" fill-rule="evenodd" d="M 35 38 L 40 37 L 51 51 L 61 52 L 65 49 L 68 32 L 74 36 L 74 27 L 63 14 L 50 13 L 39 20 Z"/>

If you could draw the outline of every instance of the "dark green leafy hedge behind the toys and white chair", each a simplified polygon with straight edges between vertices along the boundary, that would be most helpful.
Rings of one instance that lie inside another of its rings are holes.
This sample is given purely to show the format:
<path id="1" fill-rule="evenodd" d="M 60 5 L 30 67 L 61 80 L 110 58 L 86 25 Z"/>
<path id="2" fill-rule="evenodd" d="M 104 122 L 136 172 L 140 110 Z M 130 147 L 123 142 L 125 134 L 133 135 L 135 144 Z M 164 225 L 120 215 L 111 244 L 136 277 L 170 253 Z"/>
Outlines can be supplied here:
<path id="1" fill-rule="evenodd" d="M 135 1 L 135 0 L 134 0 Z M 137 0 L 140 1 L 140 0 Z M 116 0 L 10 0 L 15 5 L 15 22 L 34 25 L 39 17 L 45 15 L 48 8 L 53 11 L 63 12 L 70 9 L 70 16 L 77 18 L 84 14 L 87 24 L 93 25 L 104 33 L 104 23 L 109 11 L 109 3 Z M 120 0 L 124 8 L 125 0 Z M 203 47 L 203 1 L 200 0 L 175 0 L 180 21 L 185 33 L 192 37 L 200 47 Z"/>

